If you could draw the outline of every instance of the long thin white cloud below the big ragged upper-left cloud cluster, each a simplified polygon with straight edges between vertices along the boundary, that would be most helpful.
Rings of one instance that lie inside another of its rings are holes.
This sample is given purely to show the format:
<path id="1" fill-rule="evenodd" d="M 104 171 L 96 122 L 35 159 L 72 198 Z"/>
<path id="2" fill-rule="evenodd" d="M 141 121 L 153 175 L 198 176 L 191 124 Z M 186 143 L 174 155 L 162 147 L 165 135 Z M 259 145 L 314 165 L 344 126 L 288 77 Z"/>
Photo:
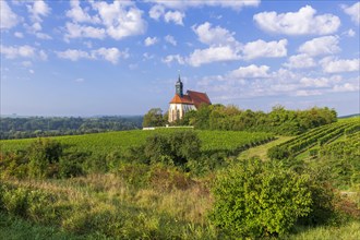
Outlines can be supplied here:
<path id="1" fill-rule="evenodd" d="M 81 59 L 104 59 L 112 64 L 117 64 L 120 58 L 129 58 L 128 51 L 120 51 L 118 48 L 99 48 L 89 52 L 77 49 L 68 49 L 65 51 L 57 51 L 56 53 L 58 58 L 69 59 L 71 61 L 79 61 Z"/>

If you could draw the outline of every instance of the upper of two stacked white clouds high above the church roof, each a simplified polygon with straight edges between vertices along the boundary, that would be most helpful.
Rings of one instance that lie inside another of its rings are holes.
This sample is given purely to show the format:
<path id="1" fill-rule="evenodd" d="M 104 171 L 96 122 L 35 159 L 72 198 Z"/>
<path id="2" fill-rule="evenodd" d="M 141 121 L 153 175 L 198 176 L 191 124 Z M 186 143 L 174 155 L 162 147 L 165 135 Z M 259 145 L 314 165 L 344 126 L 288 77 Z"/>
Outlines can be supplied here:
<path id="1" fill-rule="evenodd" d="M 212 24 L 208 22 L 205 22 L 199 26 L 192 26 L 192 29 L 197 35 L 199 40 L 206 45 L 238 45 L 237 40 L 233 38 L 233 33 L 230 33 L 228 29 L 219 26 L 212 27 Z"/>

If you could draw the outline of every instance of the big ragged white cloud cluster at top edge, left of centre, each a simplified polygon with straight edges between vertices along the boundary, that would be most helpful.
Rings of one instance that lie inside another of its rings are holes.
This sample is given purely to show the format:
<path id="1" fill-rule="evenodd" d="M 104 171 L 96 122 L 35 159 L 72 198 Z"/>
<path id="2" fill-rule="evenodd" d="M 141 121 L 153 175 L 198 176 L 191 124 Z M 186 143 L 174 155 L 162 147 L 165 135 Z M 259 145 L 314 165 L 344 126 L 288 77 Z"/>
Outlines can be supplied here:
<path id="1" fill-rule="evenodd" d="M 70 4 L 67 16 L 71 22 L 65 24 L 65 40 L 82 37 L 104 39 L 106 36 L 119 40 L 145 33 L 143 12 L 131 1 L 91 1 L 91 5 L 85 9 L 79 1 L 71 1 Z M 93 15 L 89 9 L 95 12 Z"/>

